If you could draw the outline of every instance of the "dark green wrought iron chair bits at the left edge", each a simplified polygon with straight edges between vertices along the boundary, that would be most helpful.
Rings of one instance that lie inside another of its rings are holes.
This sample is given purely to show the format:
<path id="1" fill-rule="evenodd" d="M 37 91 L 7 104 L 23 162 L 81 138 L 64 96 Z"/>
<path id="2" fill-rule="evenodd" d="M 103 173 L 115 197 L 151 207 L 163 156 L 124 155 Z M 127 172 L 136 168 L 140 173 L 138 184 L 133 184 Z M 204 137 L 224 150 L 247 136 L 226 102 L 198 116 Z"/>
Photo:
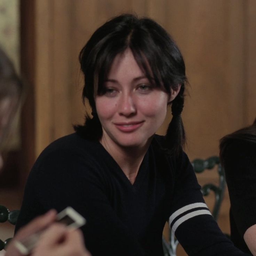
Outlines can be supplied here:
<path id="1" fill-rule="evenodd" d="M 0 205 L 0 222 L 6 222 L 8 221 L 9 223 L 15 225 L 18 219 L 19 215 L 19 210 L 13 210 L 9 211 L 9 209 L 5 206 Z M 6 239 L 5 241 L 2 241 L 0 239 L 0 251 L 5 249 L 7 246 L 8 242 L 10 242 L 11 238 Z"/>

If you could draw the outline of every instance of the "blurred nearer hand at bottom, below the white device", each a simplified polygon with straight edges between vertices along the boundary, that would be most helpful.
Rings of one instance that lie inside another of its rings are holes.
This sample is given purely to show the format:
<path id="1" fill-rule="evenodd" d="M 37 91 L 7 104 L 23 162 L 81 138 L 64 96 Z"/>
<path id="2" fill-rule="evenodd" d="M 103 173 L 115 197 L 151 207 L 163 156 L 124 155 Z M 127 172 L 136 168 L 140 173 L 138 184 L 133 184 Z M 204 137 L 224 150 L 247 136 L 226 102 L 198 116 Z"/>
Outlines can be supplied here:
<path id="1" fill-rule="evenodd" d="M 80 230 L 70 231 L 54 223 L 40 236 L 31 256 L 91 256 L 86 250 Z"/>

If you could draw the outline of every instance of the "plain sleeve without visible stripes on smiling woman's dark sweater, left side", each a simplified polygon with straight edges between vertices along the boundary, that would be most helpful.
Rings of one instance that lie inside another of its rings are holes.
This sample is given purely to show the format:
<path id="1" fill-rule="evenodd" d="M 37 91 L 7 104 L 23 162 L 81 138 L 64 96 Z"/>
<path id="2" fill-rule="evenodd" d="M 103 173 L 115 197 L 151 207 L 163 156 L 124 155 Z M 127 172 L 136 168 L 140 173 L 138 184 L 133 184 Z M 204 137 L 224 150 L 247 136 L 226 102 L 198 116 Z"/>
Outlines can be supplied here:
<path id="1" fill-rule="evenodd" d="M 64 150 L 39 158 L 26 184 L 16 231 L 51 208 L 71 206 L 87 220 L 81 229 L 92 255 L 145 255 L 111 207 L 96 165 L 85 155 Z"/>

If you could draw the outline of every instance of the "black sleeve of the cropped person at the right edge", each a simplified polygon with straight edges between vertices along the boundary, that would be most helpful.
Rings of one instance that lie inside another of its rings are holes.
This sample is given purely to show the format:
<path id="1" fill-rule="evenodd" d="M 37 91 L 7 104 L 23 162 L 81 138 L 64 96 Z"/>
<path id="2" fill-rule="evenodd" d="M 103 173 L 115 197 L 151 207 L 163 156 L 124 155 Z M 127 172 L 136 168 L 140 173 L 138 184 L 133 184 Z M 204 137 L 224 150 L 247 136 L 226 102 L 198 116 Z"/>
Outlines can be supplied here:
<path id="1" fill-rule="evenodd" d="M 243 237 L 256 224 L 256 144 L 234 141 L 223 158 L 231 212 Z"/>

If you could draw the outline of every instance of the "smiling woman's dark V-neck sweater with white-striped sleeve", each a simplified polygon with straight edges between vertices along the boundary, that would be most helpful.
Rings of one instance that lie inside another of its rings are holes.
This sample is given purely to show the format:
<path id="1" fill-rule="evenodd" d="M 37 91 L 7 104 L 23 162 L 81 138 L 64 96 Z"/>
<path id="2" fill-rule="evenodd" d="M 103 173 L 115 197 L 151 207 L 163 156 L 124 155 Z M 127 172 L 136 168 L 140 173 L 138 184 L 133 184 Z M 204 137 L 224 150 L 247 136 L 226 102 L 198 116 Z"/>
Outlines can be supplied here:
<path id="1" fill-rule="evenodd" d="M 155 135 L 132 185 L 104 147 L 77 133 L 51 143 L 27 180 L 16 231 L 51 208 L 72 206 L 93 256 L 163 255 L 169 221 L 189 255 L 245 255 L 219 230 L 186 154 L 167 157 Z"/>

